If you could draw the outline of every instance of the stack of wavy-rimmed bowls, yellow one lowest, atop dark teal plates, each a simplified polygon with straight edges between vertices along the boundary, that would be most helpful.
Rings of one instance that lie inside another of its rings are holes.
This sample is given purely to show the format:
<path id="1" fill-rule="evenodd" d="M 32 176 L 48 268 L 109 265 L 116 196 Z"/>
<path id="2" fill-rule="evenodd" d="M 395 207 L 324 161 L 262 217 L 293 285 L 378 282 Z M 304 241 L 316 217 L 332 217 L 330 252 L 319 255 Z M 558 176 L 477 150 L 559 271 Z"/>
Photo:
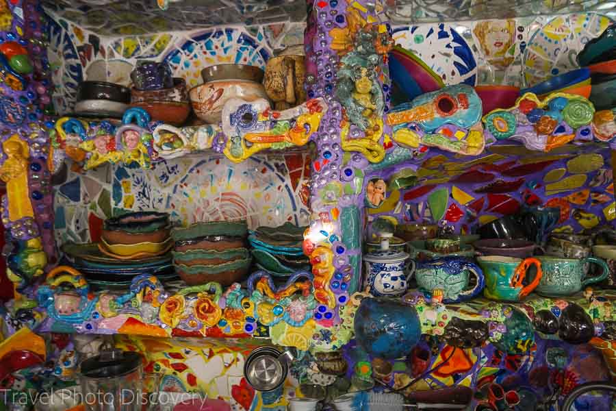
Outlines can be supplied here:
<path id="1" fill-rule="evenodd" d="M 169 235 L 169 214 L 131 212 L 105 221 L 99 249 L 118 260 L 154 258 L 171 249 Z"/>

